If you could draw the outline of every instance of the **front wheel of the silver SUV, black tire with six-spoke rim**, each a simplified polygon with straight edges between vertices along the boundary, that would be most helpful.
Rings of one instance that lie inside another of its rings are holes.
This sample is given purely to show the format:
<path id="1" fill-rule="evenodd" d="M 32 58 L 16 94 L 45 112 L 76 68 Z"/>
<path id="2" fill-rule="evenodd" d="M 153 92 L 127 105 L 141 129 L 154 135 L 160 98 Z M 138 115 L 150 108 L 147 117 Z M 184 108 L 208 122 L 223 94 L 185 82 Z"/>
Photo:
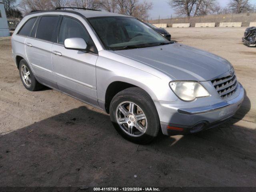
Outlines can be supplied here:
<path id="1" fill-rule="evenodd" d="M 160 129 L 154 102 L 137 87 L 127 88 L 114 96 L 110 103 L 110 119 L 122 137 L 138 144 L 154 140 Z"/>

